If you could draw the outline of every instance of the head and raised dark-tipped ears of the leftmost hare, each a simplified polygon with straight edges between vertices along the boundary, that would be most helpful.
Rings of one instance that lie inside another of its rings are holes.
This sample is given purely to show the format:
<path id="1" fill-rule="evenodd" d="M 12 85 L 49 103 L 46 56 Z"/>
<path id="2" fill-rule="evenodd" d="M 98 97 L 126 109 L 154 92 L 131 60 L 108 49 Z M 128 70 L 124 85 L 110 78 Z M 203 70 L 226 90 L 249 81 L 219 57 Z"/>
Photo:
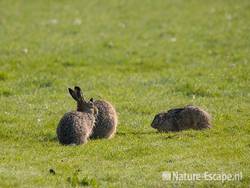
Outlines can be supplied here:
<path id="1" fill-rule="evenodd" d="M 83 97 L 82 90 L 80 87 L 75 86 L 74 90 L 69 89 L 69 93 L 73 99 L 77 102 L 77 111 L 87 112 L 96 115 L 98 113 L 97 108 L 94 105 L 94 100 L 91 98 L 89 101 L 86 101 Z"/>

